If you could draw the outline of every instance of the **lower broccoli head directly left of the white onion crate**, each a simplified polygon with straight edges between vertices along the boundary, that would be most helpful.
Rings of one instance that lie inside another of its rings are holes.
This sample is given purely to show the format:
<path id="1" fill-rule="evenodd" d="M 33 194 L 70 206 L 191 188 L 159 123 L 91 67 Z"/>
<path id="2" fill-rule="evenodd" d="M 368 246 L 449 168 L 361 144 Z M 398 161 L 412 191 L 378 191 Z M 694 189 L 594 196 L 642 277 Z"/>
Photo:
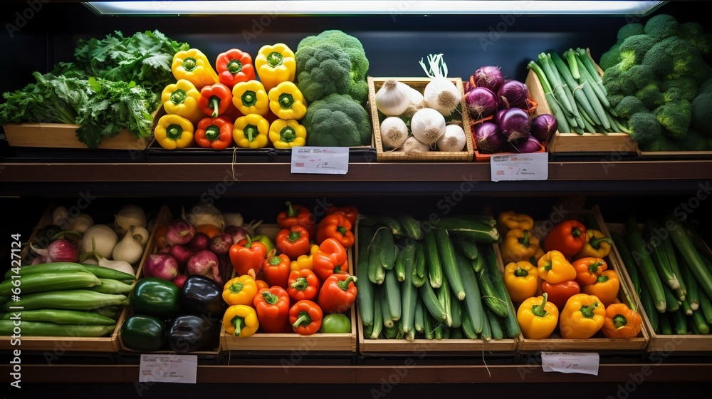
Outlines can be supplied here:
<path id="1" fill-rule="evenodd" d="M 301 122 L 307 130 L 307 145 L 358 147 L 371 142 L 368 113 L 349 95 L 332 93 L 310 103 Z"/>

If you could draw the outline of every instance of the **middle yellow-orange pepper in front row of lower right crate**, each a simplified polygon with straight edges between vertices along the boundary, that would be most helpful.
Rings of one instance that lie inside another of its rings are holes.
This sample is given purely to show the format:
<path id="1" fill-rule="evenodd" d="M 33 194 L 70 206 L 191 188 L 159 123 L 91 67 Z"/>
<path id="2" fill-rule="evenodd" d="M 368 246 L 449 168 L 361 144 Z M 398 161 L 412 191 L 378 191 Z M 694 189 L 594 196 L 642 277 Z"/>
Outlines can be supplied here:
<path id="1" fill-rule="evenodd" d="M 559 316 L 564 339 L 591 338 L 603 326 L 606 309 L 595 295 L 576 294 L 566 301 Z"/>

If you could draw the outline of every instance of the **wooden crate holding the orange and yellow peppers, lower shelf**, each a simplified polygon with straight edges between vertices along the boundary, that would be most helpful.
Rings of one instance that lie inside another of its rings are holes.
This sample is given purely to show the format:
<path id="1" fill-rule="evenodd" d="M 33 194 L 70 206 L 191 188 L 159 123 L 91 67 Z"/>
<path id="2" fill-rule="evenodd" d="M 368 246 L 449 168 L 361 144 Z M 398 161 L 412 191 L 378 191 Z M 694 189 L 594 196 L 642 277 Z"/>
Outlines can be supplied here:
<path id="1" fill-rule="evenodd" d="M 606 227 L 603 220 L 602 214 L 598 207 L 593 207 L 589 210 L 582 210 L 580 212 L 571 212 L 567 214 L 567 219 L 575 218 L 579 219 L 584 213 L 592 213 L 595 216 L 596 221 L 601 227 L 601 232 L 610 237 L 610 233 Z M 547 224 L 543 222 L 535 222 L 534 231 L 545 231 L 545 226 Z M 539 229 L 537 227 L 539 226 Z M 544 237 L 538 237 L 543 244 Z M 498 257 L 501 259 L 499 253 L 499 248 L 497 247 Z M 611 250 L 611 254 L 604 260 L 608 264 L 608 269 L 615 270 L 619 276 L 620 289 L 619 289 L 619 299 L 624 301 L 625 296 L 629 296 L 634 299 L 634 301 L 639 302 L 638 296 L 633 291 L 633 284 L 630 281 L 625 268 L 617 260 L 617 253 L 614 249 Z M 504 271 L 504 269 L 501 269 Z M 515 305 L 516 307 L 516 305 Z M 529 339 L 522 338 L 519 343 L 518 351 L 520 352 L 536 352 L 536 351 L 596 351 L 607 355 L 619 355 L 624 353 L 629 353 L 634 356 L 638 354 L 644 354 L 646 348 L 650 342 L 650 333 L 648 328 L 642 328 L 639 336 L 635 338 L 606 338 L 602 333 L 597 333 L 592 338 L 587 339 L 564 339 L 557 335 L 557 330 L 554 331 L 553 335 L 545 339 Z"/>

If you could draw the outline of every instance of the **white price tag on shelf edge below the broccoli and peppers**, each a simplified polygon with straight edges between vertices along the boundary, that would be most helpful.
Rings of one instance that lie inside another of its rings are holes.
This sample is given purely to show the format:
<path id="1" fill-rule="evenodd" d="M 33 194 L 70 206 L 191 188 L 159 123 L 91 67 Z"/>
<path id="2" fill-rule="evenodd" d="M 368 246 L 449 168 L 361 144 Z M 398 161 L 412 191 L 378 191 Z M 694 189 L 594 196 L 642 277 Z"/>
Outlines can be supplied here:
<path id="1" fill-rule="evenodd" d="M 346 175 L 348 147 L 292 147 L 292 173 Z"/>

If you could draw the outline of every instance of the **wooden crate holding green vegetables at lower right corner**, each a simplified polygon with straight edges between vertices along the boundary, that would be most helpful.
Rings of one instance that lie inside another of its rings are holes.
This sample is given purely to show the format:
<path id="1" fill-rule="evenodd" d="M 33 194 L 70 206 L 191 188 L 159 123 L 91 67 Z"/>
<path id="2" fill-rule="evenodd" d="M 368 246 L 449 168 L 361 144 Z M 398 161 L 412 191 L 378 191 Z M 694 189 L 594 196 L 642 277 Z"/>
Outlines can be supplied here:
<path id="1" fill-rule="evenodd" d="M 606 227 L 610 232 L 617 232 L 618 234 L 624 234 L 625 232 L 625 226 L 622 223 L 608 223 L 606 224 Z M 642 229 L 643 224 L 639 224 L 638 227 Z M 625 267 L 623 266 L 623 260 L 618 254 L 618 250 L 616 249 L 615 252 L 617 263 L 622 269 L 625 270 Z M 625 272 L 625 275 L 630 280 L 627 271 Z M 632 283 L 630 286 L 633 286 Z M 637 294 L 636 298 L 638 298 Z M 644 309 L 643 306 L 639 306 L 639 313 L 643 315 L 644 328 L 646 329 L 646 331 L 648 331 L 650 336 L 650 343 L 646 348 L 649 353 L 664 353 L 666 355 L 664 357 L 667 357 L 670 354 L 676 352 L 707 354 L 708 352 L 712 351 L 712 334 L 666 335 L 656 333 L 653 330 L 653 326 L 650 323 L 650 319 L 648 318 L 649 311 L 656 311 L 656 309 Z"/>

